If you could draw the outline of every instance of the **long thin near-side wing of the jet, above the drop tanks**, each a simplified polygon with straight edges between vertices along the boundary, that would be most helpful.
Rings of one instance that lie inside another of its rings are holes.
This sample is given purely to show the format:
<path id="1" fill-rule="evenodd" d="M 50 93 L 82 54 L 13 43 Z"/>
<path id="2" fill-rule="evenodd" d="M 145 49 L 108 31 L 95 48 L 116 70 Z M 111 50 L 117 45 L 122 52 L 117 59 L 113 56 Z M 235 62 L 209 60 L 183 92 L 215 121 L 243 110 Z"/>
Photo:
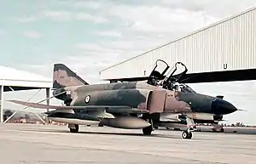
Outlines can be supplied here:
<path id="1" fill-rule="evenodd" d="M 111 105 L 85 105 L 85 106 L 63 106 L 63 105 L 42 105 L 38 103 L 29 103 L 20 100 L 7 100 L 9 102 L 25 105 L 39 109 L 55 109 L 55 110 L 107 110 L 110 113 L 148 113 L 148 110 L 133 109 L 129 106 L 111 106 Z"/>

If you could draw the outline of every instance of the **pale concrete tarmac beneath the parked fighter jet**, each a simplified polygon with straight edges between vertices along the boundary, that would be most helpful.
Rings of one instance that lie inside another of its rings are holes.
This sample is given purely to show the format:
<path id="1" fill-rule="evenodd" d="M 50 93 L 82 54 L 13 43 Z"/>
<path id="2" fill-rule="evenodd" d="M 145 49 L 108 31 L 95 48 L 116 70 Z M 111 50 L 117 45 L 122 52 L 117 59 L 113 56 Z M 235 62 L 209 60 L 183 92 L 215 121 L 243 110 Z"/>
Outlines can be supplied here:
<path id="1" fill-rule="evenodd" d="M 181 133 L 85 126 L 69 133 L 66 126 L 7 123 L 0 125 L 0 163 L 256 163 L 253 134 Z"/>

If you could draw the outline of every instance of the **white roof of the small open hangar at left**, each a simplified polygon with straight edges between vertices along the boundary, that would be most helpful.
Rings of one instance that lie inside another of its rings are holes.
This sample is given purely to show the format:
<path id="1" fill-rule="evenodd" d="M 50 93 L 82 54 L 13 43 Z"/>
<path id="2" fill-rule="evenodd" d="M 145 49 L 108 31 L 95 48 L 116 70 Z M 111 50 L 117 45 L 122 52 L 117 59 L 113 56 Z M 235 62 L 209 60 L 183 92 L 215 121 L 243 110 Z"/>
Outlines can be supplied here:
<path id="1" fill-rule="evenodd" d="M 15 90 L 51 88 L 52 80 L 34 73 L 0 65 L 0 86 L 11 86 Z M 9 91 L 8 88 L 4 90 Z"/>

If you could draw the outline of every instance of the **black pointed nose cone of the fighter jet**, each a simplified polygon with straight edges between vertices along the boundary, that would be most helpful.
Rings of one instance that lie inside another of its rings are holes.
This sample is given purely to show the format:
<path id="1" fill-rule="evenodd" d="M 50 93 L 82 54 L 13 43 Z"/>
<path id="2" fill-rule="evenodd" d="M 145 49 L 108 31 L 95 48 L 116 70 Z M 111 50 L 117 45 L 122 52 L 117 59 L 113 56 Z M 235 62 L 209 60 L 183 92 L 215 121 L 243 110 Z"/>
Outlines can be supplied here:
<path id="1" fill-rule="evenodd" d="M 212 101 L 212 110 L 216 115 L 227 115 L 235 112 L 237 109 L 224 99 L 214 99 Z"/>

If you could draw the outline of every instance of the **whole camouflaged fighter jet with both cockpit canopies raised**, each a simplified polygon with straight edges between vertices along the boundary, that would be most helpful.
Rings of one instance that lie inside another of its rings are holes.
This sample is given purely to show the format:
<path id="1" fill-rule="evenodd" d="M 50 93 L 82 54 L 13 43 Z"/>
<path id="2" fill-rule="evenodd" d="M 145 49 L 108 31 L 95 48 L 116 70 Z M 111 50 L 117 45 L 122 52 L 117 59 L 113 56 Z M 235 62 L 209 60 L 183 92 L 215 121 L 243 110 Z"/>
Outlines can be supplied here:
<path id="1" fill-rule="evenodd" d="M 98 122 L 108 127 L 143 129 L 143 134 L 149 135 L 154 127 L 182 123 L 187 125 L 187 130 L 182 133 L 183 139 L 192 138 L 195 121 L 219 120 L 236 111 L 236 107 L 224 99 L 195 93 L 188 86 L 183 85 L 185 88 L 181 91 L 173 89 L 173 73 L 161 79 L 169 66 L 161 74 L 156 67 L 147 82 L 89 85 L 66 65 L 55 64 L 53 95 L 65 105 L 9 101 L 33 108 L 55 109 L 47 112 L 48 118 L 68 123 L 71 133 L 78 133 L 79 125 Z M 189 92 L 184 92 L 184 89 Z"/>

